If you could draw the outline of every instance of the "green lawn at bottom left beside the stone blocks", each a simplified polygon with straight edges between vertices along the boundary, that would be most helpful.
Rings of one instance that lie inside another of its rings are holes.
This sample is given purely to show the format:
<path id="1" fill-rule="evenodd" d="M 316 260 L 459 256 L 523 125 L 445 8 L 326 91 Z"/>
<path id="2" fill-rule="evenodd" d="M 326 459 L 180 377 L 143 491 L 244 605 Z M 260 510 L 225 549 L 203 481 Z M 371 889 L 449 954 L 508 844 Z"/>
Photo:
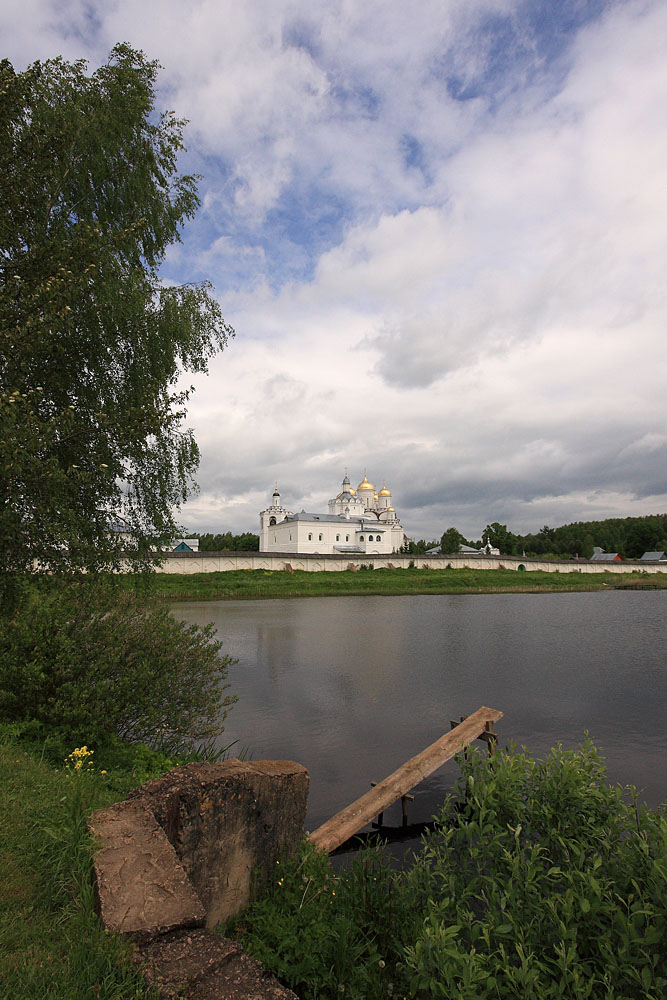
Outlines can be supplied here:
<path id="1" fill-rule="evenodd" d="M 9 727 L 0 730 L 3 1000 L 157 1000 L 133 968 L 128 945 L 105 932 L 94 910 L 87 816 L 124 797 L 145 773 L 139 762 L 133 776 L 125 761 L 101 775 L 110 761 L 68 773 L 34 744 L 26 748 Z"/>

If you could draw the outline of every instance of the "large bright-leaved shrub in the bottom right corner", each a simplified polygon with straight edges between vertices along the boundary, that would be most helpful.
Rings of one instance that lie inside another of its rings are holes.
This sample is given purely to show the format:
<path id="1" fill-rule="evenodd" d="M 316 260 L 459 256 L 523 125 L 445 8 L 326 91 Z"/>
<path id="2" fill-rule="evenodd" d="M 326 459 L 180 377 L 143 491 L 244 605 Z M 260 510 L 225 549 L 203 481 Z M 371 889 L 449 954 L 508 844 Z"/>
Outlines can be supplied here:
<path id="1" fill-rule="evenodd" d="M 597 751 L 472 754 L 465 805 L 426 838 L 415 996 L 636 997 L 667 988 L 667 819 L 605 782 Z"/>

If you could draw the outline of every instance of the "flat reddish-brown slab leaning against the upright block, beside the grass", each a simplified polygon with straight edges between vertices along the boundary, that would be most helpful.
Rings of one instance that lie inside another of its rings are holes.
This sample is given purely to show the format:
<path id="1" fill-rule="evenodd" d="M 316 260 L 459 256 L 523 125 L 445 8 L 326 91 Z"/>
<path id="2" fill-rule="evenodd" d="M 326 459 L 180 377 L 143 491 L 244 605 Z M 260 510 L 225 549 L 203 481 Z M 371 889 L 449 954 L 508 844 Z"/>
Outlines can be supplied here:
<path id="1" fill-rule="evenodd" d="M 117 802 L 94 813 L 99 850 L 95 886 L 105 927 L 152 938 L 177 927 L 201 927 L 206 911 L 174 848 L 140 802 Z"/>

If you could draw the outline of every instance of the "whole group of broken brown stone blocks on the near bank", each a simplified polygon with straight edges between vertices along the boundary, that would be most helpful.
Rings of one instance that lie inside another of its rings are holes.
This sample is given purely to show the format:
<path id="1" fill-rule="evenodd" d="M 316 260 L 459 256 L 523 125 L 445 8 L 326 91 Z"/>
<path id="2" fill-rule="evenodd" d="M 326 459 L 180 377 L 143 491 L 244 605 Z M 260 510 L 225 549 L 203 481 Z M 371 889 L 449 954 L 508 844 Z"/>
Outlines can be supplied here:
<path id="1" fill-rule="evenodd" d="M 164 1000 L 297 1000 L 202 925 L 235 913 L 276 877 L 276 860 L 298 853 L 308 783 L 290 761 L 187 764 L 91 816 L 100 916 L 134 938 Z"/>

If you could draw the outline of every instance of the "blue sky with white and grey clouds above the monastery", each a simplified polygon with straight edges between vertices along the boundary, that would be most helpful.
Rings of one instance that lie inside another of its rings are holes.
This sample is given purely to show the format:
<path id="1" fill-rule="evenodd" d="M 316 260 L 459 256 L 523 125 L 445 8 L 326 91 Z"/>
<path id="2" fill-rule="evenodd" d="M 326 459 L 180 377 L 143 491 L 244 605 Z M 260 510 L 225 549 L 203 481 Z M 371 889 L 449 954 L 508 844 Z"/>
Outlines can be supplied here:
<path id="1" fill-rule="evenodd" d="M 190 121 L 164 277 L 236 338 L 188 529 L 346 469 L 416 538 L 667 510 L 665 0 L 5 0 L 0 38 L 128 41 Z"/>

